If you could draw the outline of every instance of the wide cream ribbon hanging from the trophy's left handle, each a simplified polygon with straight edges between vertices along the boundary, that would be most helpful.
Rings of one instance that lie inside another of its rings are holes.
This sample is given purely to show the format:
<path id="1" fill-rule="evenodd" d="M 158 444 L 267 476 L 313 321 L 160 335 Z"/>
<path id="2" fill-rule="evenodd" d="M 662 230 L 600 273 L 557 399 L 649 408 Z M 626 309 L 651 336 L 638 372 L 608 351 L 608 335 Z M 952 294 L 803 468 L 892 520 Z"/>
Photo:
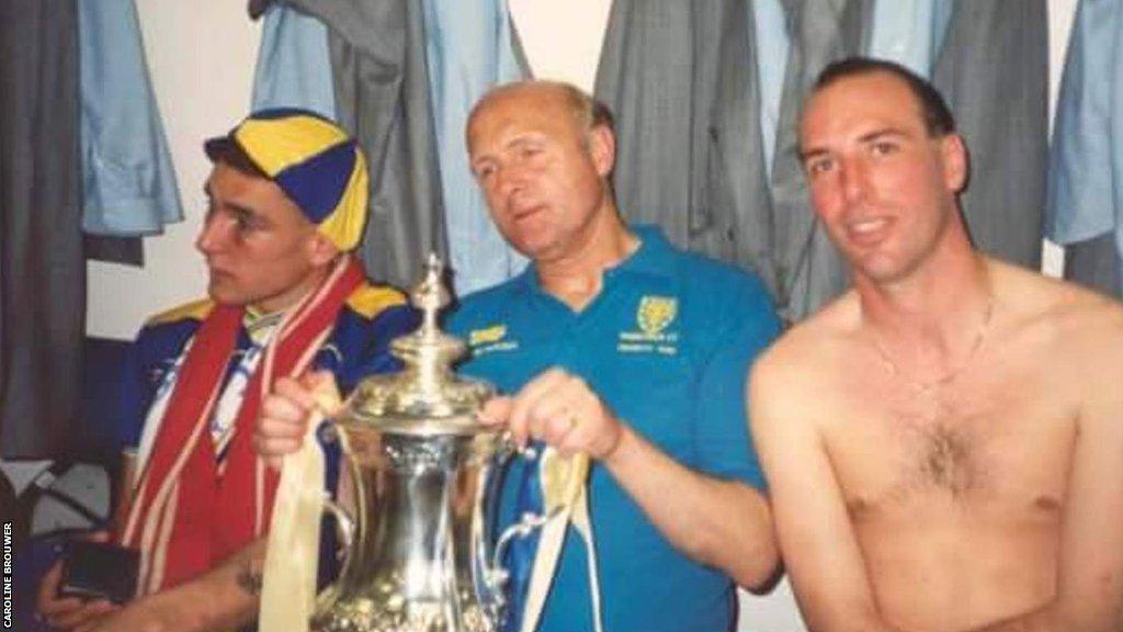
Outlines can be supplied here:
<path id="1" fill-rule="evenodd" d="M 259 632 L 308 632 L 316 605 L 316 575 L 323 515 L 323 452 L 316 430 L 323 410 L 337 410 L 339 392 L 321 382 L 312 392 L 317 407 L 300 450 L 284 458 L 270 523 L 262 576 Z"/>

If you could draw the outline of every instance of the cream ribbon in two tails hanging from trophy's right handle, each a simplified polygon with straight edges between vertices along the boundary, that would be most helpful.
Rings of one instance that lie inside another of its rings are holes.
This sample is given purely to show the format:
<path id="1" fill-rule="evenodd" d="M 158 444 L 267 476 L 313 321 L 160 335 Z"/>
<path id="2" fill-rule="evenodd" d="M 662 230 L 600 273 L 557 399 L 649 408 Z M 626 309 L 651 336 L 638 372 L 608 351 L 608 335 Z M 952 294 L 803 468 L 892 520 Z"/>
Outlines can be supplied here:
<path id="1" fill-rule="evenodd" d="M 601 623 L 601 584 L 596 577 L 596 547 L 593 524 L 588 514 L 588 455 L 575 454 L 564 458 L 553 448 L 542 451 L 539 462 L 539 479 L 542 486 L 542 512 L 550 516 L 542 526 L 535 553 L 535 566 L 527 588 L 527 605 L 522 614 L 522 632 L 533 632 L 541 617 L 546 596 L 557 571 L 562 544 L 566 530 L 572 523 L 585 541 L 588 560 L 588 593 L 593 599 L 593 625 L 603 632 Z"/>

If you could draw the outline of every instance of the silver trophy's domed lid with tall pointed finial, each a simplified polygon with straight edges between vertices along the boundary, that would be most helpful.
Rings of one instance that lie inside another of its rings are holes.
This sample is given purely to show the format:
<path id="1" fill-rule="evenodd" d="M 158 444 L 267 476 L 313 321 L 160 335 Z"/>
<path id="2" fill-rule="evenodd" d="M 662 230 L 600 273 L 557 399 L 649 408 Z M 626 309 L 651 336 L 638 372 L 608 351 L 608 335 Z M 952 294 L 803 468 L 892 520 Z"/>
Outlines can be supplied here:
<path id="1" fill-rule="evenodd" d="M 424 277 L 410 291 L 410 301 L 421 310 L 421 326 L 391 342 L 391 353 L 405 368 L 363 379 L 337 419 L 343 426 L 419 435 L 491 432 L 476 413 L 494 388 L 453 372 L 451 364 L 467 347 L 437 325 L 437 314 L 450 298 L 442 269 L 440 259 L 430 254 Z"/>

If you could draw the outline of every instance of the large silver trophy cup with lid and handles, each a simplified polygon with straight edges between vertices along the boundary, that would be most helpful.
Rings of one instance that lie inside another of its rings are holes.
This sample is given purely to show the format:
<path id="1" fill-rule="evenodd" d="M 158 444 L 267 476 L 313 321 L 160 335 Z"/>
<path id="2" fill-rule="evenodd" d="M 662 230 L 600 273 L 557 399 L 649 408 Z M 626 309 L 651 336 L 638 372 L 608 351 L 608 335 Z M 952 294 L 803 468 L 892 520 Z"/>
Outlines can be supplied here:
<path id="1" fill-rule="evenodd" d="M 494 632 L 504 616 L 503 549 L 547 518 L 528 515 L 490 538 L 512 448 L 476 417 L 492 387 L 451 370 L 465 344 L 437 326 L 449 296 L 440 261 L 430 255 L 427 268 L 411 292 L 422 324 L 391 344 L 405 369 L 364 379 L 335 419 L 357 517 L 328 504 L 345 560 L 317 599 L 312 630 Z"/>

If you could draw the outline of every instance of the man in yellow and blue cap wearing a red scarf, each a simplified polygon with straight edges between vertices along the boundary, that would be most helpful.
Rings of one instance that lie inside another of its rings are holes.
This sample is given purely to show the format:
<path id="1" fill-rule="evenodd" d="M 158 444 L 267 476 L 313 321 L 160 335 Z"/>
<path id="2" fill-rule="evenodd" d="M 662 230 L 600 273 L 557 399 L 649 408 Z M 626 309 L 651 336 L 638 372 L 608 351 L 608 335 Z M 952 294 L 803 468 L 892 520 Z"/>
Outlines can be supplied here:
<path id="1" fill-rule="evenodd" d="M 138 476 L 113 540 L 140 552 L 137 598 L 118 607 L 57 597 L 53 570 L 38 605 L 56 629 L 252 621 L 277 482 L 250 446 L 262 397 L 312 368 L 349 390 L 394 368 L 389 342 L 416 324 L 403 295 L 368 282 L 350 254 L 367 170 L 338 126 L 304 110 L 258 111 L 204 148 L 214 166 L 195 246 L 209 298 L 152 318 L 126 368 L 122 444 Z M 325 451 L 334 488 L 338 454 Z"/>

